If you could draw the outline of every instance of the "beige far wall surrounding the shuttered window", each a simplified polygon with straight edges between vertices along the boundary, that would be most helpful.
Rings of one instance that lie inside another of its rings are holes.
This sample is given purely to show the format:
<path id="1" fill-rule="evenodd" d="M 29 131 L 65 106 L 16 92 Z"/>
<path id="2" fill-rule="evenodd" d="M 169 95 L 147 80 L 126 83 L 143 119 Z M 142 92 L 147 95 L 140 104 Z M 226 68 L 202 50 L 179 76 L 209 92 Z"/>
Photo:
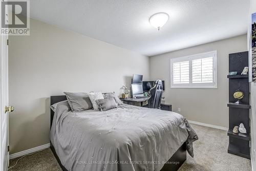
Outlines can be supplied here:
<path id="1" fill-rule="evenodd" d="M 170 89 L 170 58 L 217 50 L 218 89 Z M 165 102 L 188 120 L 228 127 L 228 54 L 247 50 L 246 35 L 150 57 L 151 79 L 165 80 Z"/>

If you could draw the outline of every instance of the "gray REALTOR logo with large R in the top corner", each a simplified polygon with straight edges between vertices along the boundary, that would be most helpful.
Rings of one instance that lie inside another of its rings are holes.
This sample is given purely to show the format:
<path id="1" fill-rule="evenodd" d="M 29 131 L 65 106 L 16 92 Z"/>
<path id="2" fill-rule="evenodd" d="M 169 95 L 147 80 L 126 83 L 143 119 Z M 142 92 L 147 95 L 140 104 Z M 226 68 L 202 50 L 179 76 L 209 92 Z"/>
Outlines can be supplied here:
<path id="1" fill-rule="evenodd" d="M 29 35 L 29 1 L 2 2 L 2 34 Z"/>

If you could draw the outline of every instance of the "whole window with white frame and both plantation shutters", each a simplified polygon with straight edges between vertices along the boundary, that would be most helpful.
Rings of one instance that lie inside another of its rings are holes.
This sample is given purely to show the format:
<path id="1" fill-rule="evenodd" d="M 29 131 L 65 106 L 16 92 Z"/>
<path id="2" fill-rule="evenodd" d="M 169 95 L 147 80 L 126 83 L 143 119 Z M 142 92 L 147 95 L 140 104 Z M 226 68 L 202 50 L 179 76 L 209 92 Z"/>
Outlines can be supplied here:
<path id="1" fill-rule="evenodd" d="M 171 88 L 217 88 L 217 51 L 170 59 Z"/>

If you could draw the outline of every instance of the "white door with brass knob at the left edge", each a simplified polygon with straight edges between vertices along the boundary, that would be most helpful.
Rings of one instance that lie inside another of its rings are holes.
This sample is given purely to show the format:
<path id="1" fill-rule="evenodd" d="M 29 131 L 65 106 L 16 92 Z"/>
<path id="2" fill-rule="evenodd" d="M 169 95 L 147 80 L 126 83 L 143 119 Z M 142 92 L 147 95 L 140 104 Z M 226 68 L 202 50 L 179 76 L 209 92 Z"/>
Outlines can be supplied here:
<path id="1" fill-rule="evenodd" d="M 1 4 L 1 3 L 0 3 Z M 1 9 L 1 8 L 0 8 Z M 1 24 L 2 22 L 0 22 Z M 2 26 L 1 26 L 2 28 Z M 8 35 L 1 34 L 1 70 L 0 70 L 0 171 L 6 171 L 9 164 L 8 152 L 8 111 L 11 112 L 8 104 Z"/>

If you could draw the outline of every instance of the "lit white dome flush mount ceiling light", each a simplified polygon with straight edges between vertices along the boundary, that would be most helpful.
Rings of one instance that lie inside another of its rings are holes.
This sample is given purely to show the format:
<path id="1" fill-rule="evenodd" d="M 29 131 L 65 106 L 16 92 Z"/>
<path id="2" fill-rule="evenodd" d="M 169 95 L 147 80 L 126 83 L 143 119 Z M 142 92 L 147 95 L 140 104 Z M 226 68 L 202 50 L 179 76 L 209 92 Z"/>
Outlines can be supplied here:
<path id="1" fill-rule="evenodd" d="M 163 25 L 165 25 L 165 23 L 168 21 L 168 19 L 169 19 L 168 14 L 166 14 L 164 12 L 156 13 L 150 17 L 150 24 L 153 27 L 157 28 L 159 31 L 160 28 L 163 27 Z"/>

